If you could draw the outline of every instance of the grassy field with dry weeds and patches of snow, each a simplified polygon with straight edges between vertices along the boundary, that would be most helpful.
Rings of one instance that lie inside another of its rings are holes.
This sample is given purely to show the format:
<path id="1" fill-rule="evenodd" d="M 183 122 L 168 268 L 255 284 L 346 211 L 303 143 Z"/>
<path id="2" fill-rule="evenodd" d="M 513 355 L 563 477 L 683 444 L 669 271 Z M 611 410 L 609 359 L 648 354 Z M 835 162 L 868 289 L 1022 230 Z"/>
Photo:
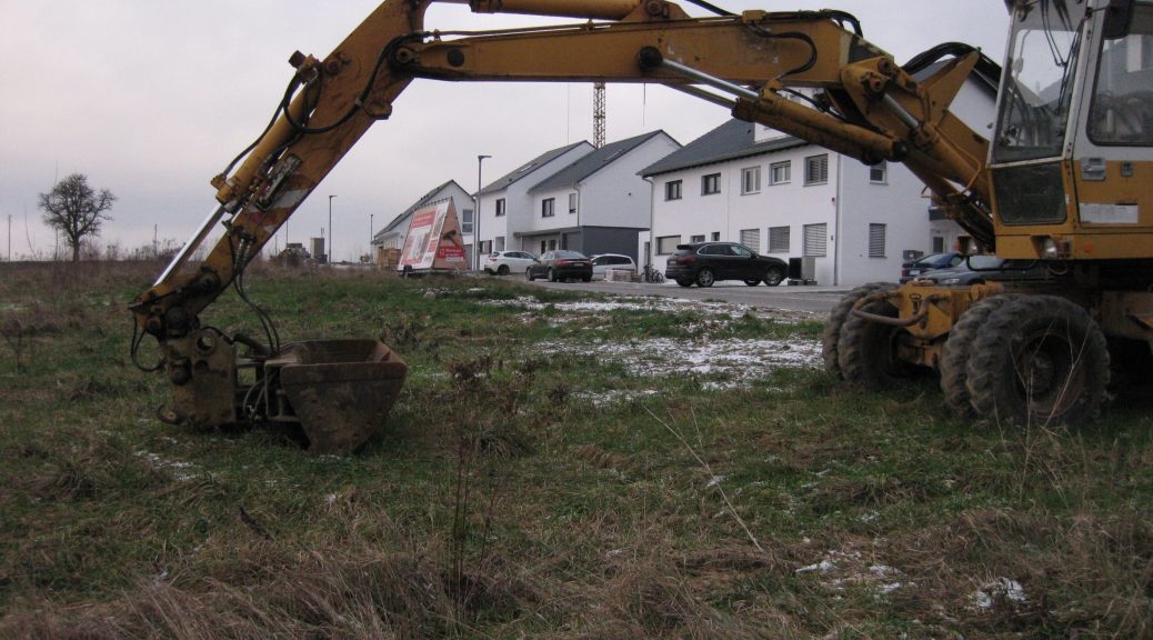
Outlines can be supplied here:
<path id="1" fill-rule="evenodd" d="M 847 389 L 771 311 L 254 271 L 286 339 L 410 366 L 316 458 L 152 417 L 157 270 L 0 265 L 0 638 L 1153 637 L 1147 387 L 1009 430 Z"/>

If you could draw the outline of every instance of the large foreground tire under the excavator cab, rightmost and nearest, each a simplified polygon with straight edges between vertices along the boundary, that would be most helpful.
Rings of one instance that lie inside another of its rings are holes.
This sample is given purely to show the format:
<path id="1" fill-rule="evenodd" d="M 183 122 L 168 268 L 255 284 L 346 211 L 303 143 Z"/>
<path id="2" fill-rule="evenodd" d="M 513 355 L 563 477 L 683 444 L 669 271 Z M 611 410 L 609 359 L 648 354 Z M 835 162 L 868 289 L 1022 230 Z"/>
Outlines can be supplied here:
<path id="1" fill-rule="evenodd" d="M 1022 296 L 985 322 L 965 375 L 980 417 L 1073 426 L 1105 404 L 1109 349 L 1085 309 L 1055 295 Z"/>

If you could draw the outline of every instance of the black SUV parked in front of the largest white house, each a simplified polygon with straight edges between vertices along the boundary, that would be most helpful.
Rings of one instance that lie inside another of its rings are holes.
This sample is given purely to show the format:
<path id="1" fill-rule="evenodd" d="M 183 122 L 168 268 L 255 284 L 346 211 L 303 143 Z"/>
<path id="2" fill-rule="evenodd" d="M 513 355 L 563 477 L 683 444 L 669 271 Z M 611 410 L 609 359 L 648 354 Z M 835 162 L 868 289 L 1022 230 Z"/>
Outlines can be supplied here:
<path id="1" fill-rule="evenodd" d="M 665 264 L 664 274 L 683 287 L 696 283 L 710 287 L 717 280 L 744 280 L 751 287 L 764 283 L 775 287 L 785 279 L 789 265 L 783 259 L 758 255 L 736 242 L 693 242 L 677 244 Z"/>

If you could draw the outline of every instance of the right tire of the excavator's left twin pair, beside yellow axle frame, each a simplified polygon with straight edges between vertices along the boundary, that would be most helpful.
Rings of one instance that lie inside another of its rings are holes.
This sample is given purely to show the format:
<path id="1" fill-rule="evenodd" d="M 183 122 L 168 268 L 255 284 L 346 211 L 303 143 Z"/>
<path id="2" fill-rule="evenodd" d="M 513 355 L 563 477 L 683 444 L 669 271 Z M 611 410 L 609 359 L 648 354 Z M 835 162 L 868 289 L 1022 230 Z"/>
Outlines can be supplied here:
<path id="1" fill-rule="evenodd" d="M 867 302 L 860 310 L 890 318 L 898 315 L 888 300 Z M 849 314 L 837 341 L 837 366 L 845 382 L 865 389 L 884 389 L 906 377 L 909 366 L 896 357 L 896 337 L 902 332 L 902 327 Z"/>

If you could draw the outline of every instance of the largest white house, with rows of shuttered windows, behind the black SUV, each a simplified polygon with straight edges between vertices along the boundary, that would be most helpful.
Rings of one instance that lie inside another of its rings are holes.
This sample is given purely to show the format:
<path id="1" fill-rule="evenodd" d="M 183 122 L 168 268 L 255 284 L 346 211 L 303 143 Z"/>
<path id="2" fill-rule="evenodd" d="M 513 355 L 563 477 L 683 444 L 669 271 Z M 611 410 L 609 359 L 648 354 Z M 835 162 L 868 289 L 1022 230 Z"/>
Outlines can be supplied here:
<path id="1" fill-rule="evenodd" d="M 974 75 L 951 111 L 986 133 L 995 92 L 994 80 Z M 817 284 L 853 286 L 895 280 L 906 251 L 966 240 L 951 220 L 934 219 L 924 185 L 904 166 L 866 166 L 740 120 L 641 173 L 654 195 L 639 248 L 656 269 L 679 243 L 725 240 L 785 261 L 813 256 Z"/>

